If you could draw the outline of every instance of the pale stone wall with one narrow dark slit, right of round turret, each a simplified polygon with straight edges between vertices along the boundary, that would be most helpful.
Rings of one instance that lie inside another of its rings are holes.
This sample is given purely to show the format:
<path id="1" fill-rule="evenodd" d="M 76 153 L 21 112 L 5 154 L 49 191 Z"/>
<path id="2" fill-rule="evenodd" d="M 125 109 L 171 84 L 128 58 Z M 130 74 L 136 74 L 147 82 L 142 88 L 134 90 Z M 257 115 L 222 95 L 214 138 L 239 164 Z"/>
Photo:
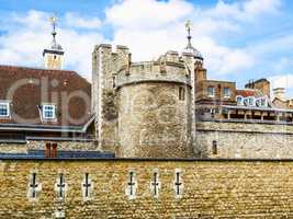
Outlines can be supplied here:
<path id="1" fill-rule="evenodd" d="M 293 158 L 293 126 L 198 122 L 195 146 L 204 158 Z"/>

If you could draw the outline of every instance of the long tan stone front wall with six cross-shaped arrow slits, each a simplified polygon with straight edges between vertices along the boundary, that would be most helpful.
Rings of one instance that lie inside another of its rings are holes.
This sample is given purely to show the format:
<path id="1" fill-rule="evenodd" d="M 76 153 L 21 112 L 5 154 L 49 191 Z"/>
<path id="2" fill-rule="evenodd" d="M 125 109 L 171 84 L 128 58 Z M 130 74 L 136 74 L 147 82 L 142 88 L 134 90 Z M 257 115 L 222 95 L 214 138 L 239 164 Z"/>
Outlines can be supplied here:
<path id="1" fill-rule="evenodd" d="M 129 171 L 135 174 L 132 198 Z M 42 187 L 36 199 L 27 197 L 33 172 Z M 64 173 L 65 199 L 55 191 L 58 173 Z M 93 186 L 88 200 L 84 173 Z M 71 219 L 292 218 L 292 161 L 1 160 L 0 218 L 57 218 L 57 212 Z"/>

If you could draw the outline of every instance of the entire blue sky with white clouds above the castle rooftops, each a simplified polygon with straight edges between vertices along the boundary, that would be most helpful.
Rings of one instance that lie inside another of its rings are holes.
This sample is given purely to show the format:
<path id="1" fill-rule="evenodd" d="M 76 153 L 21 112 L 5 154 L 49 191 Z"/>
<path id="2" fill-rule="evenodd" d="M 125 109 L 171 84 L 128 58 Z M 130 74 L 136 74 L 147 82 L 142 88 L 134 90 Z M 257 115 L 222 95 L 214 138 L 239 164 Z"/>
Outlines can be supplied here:
<path id="1" fill-rule="evenodd" d="M 0 64 L 42 67 L 52 41 L 48 18 L 59 18 L 57 41 L 66 69 L 91 79 L 95 44 L 127 45 L 134 60 L 149 60 L 187 44 L 205 59 L 211 79 L 269 78 L 293 96 L 291 0 L 0 0 Z"/>

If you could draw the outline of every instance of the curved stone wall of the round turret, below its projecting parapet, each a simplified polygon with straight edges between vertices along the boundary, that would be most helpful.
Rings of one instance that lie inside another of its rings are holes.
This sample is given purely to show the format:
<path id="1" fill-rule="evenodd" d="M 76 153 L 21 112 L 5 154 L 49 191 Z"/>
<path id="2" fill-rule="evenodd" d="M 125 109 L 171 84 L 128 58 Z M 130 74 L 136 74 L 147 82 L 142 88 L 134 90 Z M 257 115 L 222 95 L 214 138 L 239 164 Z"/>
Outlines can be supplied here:
<path id="1" fill-rule="evenodd" d="M 184 90 L 184 100 L 179 97 Z M 192 157 L 190 87 L 147 82 L 119 90 L 120 154 L 127 158 Z"/>

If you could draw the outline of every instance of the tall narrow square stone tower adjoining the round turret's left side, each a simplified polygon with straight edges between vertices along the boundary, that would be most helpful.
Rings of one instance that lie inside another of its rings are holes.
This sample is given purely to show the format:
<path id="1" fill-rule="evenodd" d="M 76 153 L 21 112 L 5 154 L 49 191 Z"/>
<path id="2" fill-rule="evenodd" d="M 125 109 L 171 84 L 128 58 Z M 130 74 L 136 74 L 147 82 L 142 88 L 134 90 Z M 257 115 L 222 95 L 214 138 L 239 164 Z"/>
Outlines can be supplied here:
<path id="1" fill-rule="evenodd" d="M 125 46 L 102 44 L 92 53 L 92 112 L 95 114 L 95 137 L 100 148 L 119 151 L 116 76 L 129 64 Z"/>

